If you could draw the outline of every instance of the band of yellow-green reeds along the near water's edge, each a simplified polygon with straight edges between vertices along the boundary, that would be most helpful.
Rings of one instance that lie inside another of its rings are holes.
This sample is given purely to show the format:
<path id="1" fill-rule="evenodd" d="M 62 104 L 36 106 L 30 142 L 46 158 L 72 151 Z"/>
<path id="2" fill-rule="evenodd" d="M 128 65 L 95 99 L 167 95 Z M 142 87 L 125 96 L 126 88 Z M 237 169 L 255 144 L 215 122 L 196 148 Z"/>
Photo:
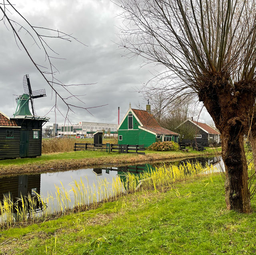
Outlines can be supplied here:
<path id="1" fill-rule="evenodd" d="M 163 190 L 176 182 L 188 180 L 196 175 L 212 172 L 212 166 L 202 167 L 200 163 L 187 163 L 181 166 L 162 166 L 138 175 L 124 173 L 115 176 L 111 181 L 98 178 L 96 183 L 89 180 L 73 180 L 70 189 L 56 185 L 55 194 L 46 197 L 22 197 L 13 202 L 12 197 L 6 196 L 0 204 L 0 227 L 12 227 L 16 223 L 46 220 L 53 215 L 65 215 L 72 212 L 82 212 L 96 208 L 100 203 L 114 201 L 127 193 L 149 189 Z"/>

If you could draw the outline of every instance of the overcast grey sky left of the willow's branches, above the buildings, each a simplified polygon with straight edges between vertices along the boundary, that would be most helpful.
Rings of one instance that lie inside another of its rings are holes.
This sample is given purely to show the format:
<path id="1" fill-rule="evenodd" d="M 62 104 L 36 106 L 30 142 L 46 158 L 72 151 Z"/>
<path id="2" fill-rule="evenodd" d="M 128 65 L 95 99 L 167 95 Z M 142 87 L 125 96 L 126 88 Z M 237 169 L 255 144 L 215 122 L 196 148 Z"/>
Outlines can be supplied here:
<path id="1" fill-rule="evenodd" d="M 2 2 L 0 0 L 0 2 Z M 129 103 L 138 108 L 145 103 L 138 89 L 153 77 L 154 66 L 142 67 L 143 59 L 126 59 L 122 56 L 124 51 L 118 48 L 118 27 L 122 20 L 117 17 L 120 12 L 110 0 L 23 0 L 12 1 L 17 10 L 33 26 L 52 28 L 63 31 L 78 38 L 82 45 L 74 40 L 72 42 L 45 38 L 54 51 L 65 60 L 52 59 L 53 64 L 60 73 L 56 73 L 56 79 L 64 84 L 84 84 L 68 87 L 74 95 L 79 97 L 85 104 L 69 99 L 69 103 L 80 107 L 103 107 L 90 109 L 90 113 L 84 109 L 74 109 L 75 113 L 69 113 L 72 124 L 80 121 L 93 121 L 102 123 L 117 123 L 118 106 L 120 107 L 120 120 L 128 110 Z M 10 13 L 11 12 L 11 13 Z M 6 12 L 13 20 L 22 23 L 14 10 Z M 14 25 L 18 30 L 18 25 Z M 22 40 L 26 43 L 28 51 L 36 63 L 47 66 L 45 55 L 38 49 L 24 30 L 19 32 Z M 10 26 L 3 22 L 0 24 L 0 88 L 1 101 L 0 111 L 12 117 L 16 109 L 16 95 L 23 94 L 22 79 L 29 74 L 32 90 L 46 89 L 47 97 L 34 99 L 36 113 L 44 116 L 54 106 L 54 97 L 49 85 L 32 64 L 22 45 L 17 46 Z M 56 85 L 58 89 L 58 85 Z M 62 90 L 63 97 L 68 97 Z M 58 100 L 58 109 L 66 115 L 64 104 Z M 54 112 L 48 113 L 50 124 L 55 122 Z M 64 118 L 59 112 L 56 113 L 56 122 L 64 123 Z M 201 113 L 200 119 L 209 121 L 210 116 L 206 111 Z"/>

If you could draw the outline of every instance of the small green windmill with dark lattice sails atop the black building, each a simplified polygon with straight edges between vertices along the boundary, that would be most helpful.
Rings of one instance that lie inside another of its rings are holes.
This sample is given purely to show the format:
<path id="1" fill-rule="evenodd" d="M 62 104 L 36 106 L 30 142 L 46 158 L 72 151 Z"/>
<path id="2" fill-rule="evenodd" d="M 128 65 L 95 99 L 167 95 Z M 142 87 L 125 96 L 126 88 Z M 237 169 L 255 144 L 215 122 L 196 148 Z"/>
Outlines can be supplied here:
<path id="1" fill-rule="evenodd" d="M 37 116 L 34 106 L 34 99 L 39 97 L 46 97 L 45 89 L 32 91 L 28 74 L 23 76 L 23 88 L 24 94 L 16 98 L 17 108 L 14 116 L 32 115 L 29 110 L 28 101 L 31 103 L 33 115 Z"/>

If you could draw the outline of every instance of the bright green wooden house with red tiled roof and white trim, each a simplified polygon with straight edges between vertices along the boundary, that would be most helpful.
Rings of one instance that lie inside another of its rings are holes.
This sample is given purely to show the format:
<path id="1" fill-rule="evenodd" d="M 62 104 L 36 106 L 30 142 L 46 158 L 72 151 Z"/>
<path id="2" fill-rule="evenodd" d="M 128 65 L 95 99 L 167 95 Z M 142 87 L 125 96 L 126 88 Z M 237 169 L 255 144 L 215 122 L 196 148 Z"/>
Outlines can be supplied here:
<path id="1" fill-rule="evenodd" d="M 154 116 L 148 111 L 129 107 L 124 119 L 118 126 L 118 144 L 144 144 L 150 146 L 154 142 L 178 142 L 179 134 L 162 128 Z"/>

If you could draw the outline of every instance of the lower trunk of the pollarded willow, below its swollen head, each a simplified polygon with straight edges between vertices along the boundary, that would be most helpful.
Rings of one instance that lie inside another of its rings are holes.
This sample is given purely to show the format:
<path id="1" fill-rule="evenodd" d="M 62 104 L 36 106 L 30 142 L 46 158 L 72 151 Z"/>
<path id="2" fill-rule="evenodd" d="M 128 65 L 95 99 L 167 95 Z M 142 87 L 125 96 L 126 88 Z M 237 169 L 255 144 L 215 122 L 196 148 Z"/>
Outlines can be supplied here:
<path id="1" fill-rule="evenodd" d="M 226 168 L 225 200 L 228 210 L 251 212 L 244 134 L 239 125 L 222 131 L 222 158 Z"/>

